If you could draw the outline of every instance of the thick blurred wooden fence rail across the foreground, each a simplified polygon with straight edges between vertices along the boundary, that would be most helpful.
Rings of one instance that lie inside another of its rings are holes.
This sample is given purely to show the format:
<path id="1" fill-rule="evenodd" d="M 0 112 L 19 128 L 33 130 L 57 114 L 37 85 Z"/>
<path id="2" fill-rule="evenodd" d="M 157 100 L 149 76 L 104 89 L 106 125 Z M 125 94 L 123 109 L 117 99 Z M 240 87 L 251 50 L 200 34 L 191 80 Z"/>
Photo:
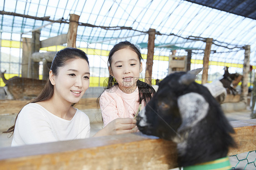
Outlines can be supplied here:
<path id="1" fill-rule="evenodd" d="M 256 150 L 256 119 L 230 122 L 237 148 Z M 0 149 L 1 170 L 168 170 L 177 167 L 173 142 L 141 133 Z"/>

